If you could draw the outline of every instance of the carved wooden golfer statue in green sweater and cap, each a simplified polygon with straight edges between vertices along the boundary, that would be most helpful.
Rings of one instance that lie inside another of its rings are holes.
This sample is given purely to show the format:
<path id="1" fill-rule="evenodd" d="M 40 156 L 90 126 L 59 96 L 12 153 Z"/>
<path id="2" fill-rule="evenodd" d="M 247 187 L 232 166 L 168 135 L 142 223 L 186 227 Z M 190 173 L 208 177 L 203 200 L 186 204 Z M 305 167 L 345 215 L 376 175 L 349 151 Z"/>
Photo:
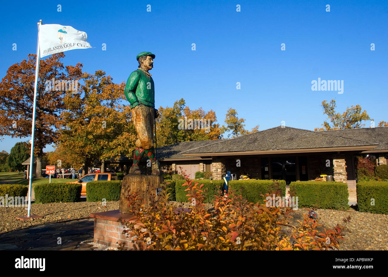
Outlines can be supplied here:
<path id="1" fill-rule="evenodd" d="M 131 73 L 125 86 L 125 96 L 131 103 L 132 120 L 137 132 L 130 174 L 141 174 L 139 162 L 144 155 L 151 160 L 152 175 L 160 174 L 153 141 L 154 118 L 158 118 L 159 113 L 155 109 L 154 81 L 148 72 L 154 66 L 154 58 L 155 55 L 151 52 L 141 52 L 137 55 L 139 69 Z"/>

